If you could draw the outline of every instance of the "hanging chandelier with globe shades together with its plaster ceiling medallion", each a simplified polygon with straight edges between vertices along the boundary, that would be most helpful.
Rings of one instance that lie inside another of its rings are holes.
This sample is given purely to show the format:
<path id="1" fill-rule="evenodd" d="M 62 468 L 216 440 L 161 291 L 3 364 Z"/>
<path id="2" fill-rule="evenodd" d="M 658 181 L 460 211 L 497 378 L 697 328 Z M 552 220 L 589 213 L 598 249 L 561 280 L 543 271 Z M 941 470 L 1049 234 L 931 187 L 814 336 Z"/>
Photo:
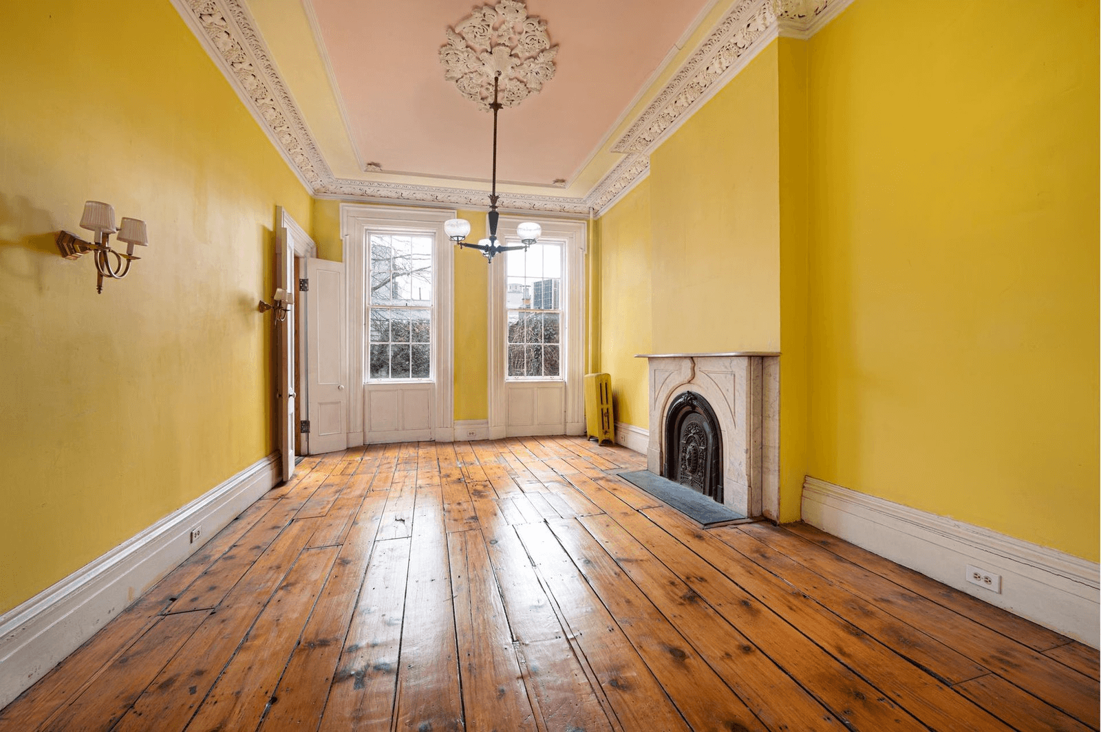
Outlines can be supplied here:
<path id="1" fill-rule="evenodd" d="M 477 244 L 468 242 L 470 222 L 449 219 L 444 222 L 448 239 L 459 249 L 477 249 L 487 262 L 498 252 L 526 250 L 538 240 L 538 223 L 525 221 L 516 227 L 522 244 L 503 247 L 497 239 L 497 113 L 514 107 L 531 94 L 538 92 L 554 77 L 554 57 L 546 22 L 527 14 L 523 0 L 498 0 L 495 6 L 475 8 L 471 15 L 447 31 L 447 44 L 439 50 L 444 77 L 455 81 L 459 91 L 481 109 L 493 111 L 493 174 L 489 195 L 489 238 Z M 493 101 L 487 103 L 489 80 L 493 80 Z"/>

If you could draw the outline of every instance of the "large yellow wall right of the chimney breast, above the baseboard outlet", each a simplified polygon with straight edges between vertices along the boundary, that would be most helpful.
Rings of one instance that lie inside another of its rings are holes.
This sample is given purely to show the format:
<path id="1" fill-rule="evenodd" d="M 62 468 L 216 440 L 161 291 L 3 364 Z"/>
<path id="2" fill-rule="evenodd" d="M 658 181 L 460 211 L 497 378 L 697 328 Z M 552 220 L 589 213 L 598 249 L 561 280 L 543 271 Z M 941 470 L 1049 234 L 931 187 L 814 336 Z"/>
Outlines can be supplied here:
<path id="1" fill-rule="evenodd" d="M 808 472 L 1098 559 L 1098 4 L 810 43 Z"/>

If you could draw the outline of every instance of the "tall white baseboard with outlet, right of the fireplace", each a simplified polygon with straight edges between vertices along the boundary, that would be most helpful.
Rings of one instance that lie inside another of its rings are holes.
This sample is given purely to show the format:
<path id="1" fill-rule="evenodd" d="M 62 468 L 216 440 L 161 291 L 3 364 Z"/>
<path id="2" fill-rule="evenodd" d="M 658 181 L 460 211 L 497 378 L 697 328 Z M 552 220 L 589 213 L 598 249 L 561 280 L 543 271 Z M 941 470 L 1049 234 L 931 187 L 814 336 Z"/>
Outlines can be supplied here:
<path id="1" fill-rule="evenodd" d="M 851 491 L 803 485 L 803 520 L 980 600 L 1069 635 L 1099 642 L 1099 565 L 1038 544 Z M 964 579 L 968 565 L 1002 576 L 993 592 Z"/>

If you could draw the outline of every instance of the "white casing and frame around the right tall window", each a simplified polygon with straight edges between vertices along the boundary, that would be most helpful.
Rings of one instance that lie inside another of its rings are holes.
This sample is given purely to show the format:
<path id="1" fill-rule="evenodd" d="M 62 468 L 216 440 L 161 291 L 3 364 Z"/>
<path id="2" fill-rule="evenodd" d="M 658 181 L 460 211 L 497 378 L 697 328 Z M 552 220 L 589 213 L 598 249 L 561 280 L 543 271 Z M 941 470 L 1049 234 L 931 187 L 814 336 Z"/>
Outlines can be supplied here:
<path id="1" fill-rule="evenodd" d="M 505 245 L 521 243 L 516 238 L 516 226 L 523 221 L 535 221 L 543 228 L 541 239 L 565 241 L 563 262 L 564 291 L 562 306 L 562 353 L 559 364 L 562 376 L 539 379 L 525 376 L 506 380 L 508 345 L 508 299 L 505 296 L 504 254 L 490 264 L 489 277 L 489 435 L 491 439 L 508 436 L 506 389 L 514 384 L 563 384 L 565 389 L 565 429 L 569 435 L 585 431 L 585 323 L 586 323 L 586 266 L 588 251 L 587 221 L 554 219 L 541 216 L 501 216 L 498 237 Z"/>

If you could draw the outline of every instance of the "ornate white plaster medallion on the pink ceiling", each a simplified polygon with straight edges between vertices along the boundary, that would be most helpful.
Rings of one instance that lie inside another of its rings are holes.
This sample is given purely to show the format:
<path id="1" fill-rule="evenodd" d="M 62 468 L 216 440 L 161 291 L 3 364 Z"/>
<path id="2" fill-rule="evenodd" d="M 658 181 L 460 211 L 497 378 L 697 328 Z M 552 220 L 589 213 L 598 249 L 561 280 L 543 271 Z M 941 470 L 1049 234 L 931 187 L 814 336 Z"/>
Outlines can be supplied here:
<path id="1" fill-rule="evenodd" d="M 558 46 L 550 45 L 546 21 L 527 14 L 522 0 L 498 0 L 475 8 L 447 29 L 439 50 L 444 78 L 484 111 L 493 102 L 493 77 L 501 73 L 499 101 L 515 107 L 554 78 Z"/>

